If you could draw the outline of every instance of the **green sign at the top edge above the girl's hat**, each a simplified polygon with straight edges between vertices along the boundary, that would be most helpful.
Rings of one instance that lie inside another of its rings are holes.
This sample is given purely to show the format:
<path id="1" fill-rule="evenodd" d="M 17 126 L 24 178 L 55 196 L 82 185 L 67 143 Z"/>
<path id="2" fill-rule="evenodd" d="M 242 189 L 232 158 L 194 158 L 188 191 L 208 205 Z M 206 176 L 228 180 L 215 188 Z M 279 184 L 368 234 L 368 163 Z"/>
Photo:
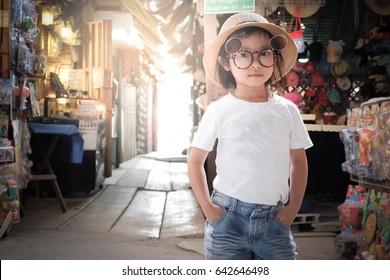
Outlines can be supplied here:
<path id="1" fill-rule="evenodd" d="M 205 14 L 230 14 L 255 10 L 255 0 L 204 0 Z"/>

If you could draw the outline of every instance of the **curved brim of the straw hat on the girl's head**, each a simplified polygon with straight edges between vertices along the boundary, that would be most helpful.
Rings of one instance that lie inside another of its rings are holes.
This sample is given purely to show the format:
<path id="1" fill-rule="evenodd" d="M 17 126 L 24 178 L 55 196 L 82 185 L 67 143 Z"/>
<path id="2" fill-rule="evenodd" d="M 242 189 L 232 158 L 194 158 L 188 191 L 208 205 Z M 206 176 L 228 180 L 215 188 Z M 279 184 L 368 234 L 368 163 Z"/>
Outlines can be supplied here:
<path id="1" fill-rule="evenodd" d="M 232 34 L 233 32 L 241 28 L 245 28 L 249 26 L 259 27 L 264 30 L 267 30 L 273 36 L 283 35 L 287 38 L 287 46 L 280 51 L 284 60 L 283 69 L 281 69 L 282 71 L 280 76 L 278 72 L 274 72 L 276 75 L 275 82 L 280 81 L 293 68 L 298 57 L 298 51 L 293 39 L 283 28 L 276 26 L 275 24 L 272 23 L 264 23 L 264 22 L 240 23 L 226 30 L 221 31 L 217 35 L 217 37 L 215 37 L 215 39 L 206 47 L 203 56 L 203 66 L 205 68 L 207 77 L 217 86 L 222 87 L 222 83 L 219 80 L 219 76 L 217 73 L 218 63 L 219 63 L 218 54 L 222 44 L 225 42 L 226 38 L 230 36 L 230 34 Z"/>

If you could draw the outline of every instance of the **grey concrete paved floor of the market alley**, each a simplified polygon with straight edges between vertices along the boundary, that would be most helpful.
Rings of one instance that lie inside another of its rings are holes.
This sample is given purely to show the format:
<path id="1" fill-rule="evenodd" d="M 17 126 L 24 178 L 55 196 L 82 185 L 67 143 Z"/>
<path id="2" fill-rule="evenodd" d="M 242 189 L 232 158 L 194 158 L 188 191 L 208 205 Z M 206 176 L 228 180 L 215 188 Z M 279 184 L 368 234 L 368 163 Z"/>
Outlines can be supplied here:
<path id="1" fill-rule="evenodd" d="M 204 217 L 182 158 L 133 158 L 114 169 L 100 191 L 65 201 L 63 213 L 56 198 L 30 197 L 21 222 L 0 240 L 0 258 L 201 259 Z M 313 210 L 320 220 L 337 220 L 336 204 L 319 206 Z M 322 228 L 294 232 L 299 259 L 341 259 L 336 233 Z"/>

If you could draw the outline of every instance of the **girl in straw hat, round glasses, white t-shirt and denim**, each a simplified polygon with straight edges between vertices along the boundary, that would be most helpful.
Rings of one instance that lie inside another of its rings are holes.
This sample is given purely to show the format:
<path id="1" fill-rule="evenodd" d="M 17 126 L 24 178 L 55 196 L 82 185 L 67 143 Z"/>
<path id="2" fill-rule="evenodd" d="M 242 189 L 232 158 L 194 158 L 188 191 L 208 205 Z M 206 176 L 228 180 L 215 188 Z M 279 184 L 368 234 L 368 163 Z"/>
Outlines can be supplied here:
<path id="1" fill-rule="evenodd" d="M 228 90 L 211 103 L 191 144 L 188 175 L 207 220 L 205 259 L 295 259 L 290 225 L 306 189 L 312 142 L 278 86 L 297 59 L 294 41 L 255 13 L 223 24 L 205 51 L 208 78 Z M 211 198 L 204 162 L 218 139 Z"/>

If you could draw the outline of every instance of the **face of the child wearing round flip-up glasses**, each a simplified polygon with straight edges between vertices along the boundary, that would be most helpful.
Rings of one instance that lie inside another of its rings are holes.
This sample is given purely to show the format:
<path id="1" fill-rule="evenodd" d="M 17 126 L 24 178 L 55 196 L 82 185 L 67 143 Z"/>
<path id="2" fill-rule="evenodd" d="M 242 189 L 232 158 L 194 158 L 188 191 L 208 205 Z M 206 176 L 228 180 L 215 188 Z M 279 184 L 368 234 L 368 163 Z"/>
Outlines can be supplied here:
<path id="1" fill-rule="evenodd" d="M 241 39 L 241 50 L 257 52 L 269 48 L 269 36 L 261 32 L 252 33 L 250 36 Z M 263 86 L 271 78 L 274 66 L 265 67 L 259 61 L 259 53 L 253 53 L 253 62 L 246 69 L 239 69 L 234 58 L 229 59 L 229 68 L 236 79 L 237 87 L 240 85 L 249 87 Z M 273 59 L 273 53 L 271 53 Z"/>

